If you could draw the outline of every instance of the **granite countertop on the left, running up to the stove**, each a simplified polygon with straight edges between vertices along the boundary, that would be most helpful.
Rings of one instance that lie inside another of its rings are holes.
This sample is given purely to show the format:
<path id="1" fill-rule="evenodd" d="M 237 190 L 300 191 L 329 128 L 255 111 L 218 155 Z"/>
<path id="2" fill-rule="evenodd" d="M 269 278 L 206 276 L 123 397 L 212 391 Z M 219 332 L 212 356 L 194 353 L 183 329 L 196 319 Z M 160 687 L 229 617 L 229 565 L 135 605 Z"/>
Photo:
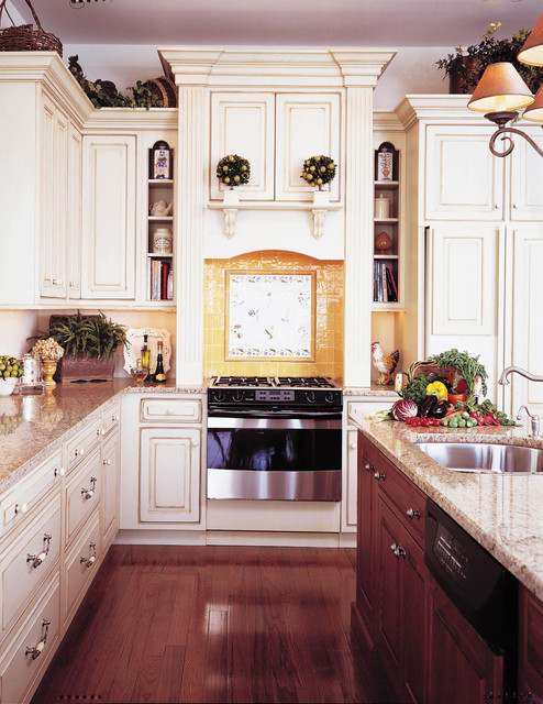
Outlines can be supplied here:
<path id="1" fill-rule="evenodd" d="M 88 421 L 101 414 L 118 394 L 202 394 L 206 388 L 182 388 L 168 381 L 164 386 L 135 386 L 131 378 L 113 382 L 57 384 L 48 394 L 12 394 L 0 397 L 0 493 Z"/>

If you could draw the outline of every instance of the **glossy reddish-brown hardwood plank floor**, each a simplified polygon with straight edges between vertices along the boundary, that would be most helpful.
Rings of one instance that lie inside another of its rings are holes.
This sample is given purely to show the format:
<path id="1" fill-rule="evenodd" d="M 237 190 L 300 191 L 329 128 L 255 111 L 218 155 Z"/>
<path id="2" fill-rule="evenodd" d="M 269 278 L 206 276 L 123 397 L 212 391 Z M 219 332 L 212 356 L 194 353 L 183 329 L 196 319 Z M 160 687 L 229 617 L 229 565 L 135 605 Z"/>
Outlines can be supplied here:
<path id="1" fill-rule="evenodd" d="M 354 561 L 354 549 L 113 546 L 32 702 L 392 703 L 351 637 Z"/>

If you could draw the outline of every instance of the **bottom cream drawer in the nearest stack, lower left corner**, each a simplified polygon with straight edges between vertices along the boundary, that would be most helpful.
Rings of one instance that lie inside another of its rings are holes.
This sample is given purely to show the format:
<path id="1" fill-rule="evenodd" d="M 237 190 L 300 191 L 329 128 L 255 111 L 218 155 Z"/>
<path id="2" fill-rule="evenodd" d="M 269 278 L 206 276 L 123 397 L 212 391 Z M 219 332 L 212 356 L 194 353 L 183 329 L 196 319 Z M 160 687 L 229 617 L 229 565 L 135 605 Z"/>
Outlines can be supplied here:
<path id="1" fill-rule="evenodd" d="M 2 702 L 26 702 L 56 650 L 60 635 L 60 588 L 55 578 L 44 598 L 9 646 L 0 666 Z M 38 654 L 36 654 L 38 653 Z"/>

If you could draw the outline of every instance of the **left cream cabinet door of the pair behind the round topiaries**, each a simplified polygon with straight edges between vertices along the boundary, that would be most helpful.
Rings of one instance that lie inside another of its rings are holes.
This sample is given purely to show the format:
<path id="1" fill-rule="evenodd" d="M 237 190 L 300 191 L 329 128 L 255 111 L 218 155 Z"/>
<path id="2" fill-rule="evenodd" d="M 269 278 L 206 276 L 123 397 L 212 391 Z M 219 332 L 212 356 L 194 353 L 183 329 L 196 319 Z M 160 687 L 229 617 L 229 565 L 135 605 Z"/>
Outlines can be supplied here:
<path id="1" fill-rule="evenodd" d="M 274 200 L 274 94 L 214 92 L 211 96 L 210 199 L 222 200 L 226 186 L 217 164 L 239 154 L 251 164 L 251 178 L 239 188 L 242 200 Z"/>

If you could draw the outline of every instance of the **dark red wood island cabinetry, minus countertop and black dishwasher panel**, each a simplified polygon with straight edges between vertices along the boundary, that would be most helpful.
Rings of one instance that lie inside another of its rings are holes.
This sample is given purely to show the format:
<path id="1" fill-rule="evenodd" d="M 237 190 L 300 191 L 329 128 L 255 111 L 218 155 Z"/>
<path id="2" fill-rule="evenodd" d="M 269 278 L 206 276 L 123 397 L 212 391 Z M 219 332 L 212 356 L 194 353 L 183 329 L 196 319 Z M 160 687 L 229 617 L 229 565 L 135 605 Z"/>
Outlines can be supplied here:
<path id="1" fill-rule="evenodd" d="M 424 564 L 425 499 L 361 432 L 353 630 L 377 649 L 398 701 L 484 702 L 501 692 L 502 658 Z"/>

